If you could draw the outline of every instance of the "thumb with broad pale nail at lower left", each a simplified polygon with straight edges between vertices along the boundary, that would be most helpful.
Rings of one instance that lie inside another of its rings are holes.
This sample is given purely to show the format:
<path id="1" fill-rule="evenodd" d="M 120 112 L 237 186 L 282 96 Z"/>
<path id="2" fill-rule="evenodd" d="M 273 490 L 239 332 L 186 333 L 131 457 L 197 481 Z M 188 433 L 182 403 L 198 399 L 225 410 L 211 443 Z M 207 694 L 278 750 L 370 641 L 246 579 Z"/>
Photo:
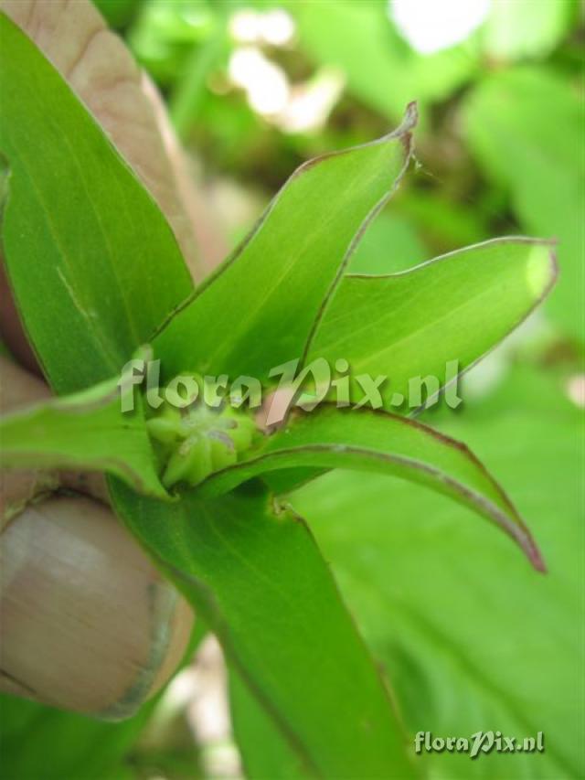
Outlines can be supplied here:
<path id="1" fill-rule="evenodd" d="M 1 550 L 0 689 L 117 719 L 175 671 L 192 613 L 107 508 L 29 506 Z"/>

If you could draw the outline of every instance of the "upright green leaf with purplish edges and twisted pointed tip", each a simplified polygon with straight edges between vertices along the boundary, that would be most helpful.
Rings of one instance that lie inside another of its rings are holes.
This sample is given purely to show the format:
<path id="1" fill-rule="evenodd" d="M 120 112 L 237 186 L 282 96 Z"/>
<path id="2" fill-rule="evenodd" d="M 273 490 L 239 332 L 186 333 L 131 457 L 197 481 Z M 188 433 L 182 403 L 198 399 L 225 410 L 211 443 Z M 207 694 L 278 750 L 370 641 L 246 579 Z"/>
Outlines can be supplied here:
<path id="1" fill-rule="evenodd" d="M 324 299 L 410 160 L 411 105 L 384 138 L 298 168 L 233 256 L 154 339 L 171 378 L 185 369 L 266 379 L 301 358 Z"/>

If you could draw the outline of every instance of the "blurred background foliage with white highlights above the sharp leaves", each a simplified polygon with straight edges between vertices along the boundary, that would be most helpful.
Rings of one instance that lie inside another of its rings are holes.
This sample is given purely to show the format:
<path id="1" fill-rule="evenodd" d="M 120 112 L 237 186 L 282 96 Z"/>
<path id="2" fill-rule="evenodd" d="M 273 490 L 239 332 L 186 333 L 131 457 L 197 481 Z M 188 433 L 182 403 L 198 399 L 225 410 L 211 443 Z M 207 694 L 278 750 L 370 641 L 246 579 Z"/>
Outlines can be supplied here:
<path id="1" fill-rule="evenodd" d="M 577 0 L 98 5 L 165 94 L 203 175 L 260 205 L 304 160 L 387 133 L 417 100 L 420 167 L 354 270 L 403 269 L 495 234 L 558 238 L 548 313 L 580 336 Z M 251 218 L 230 210 L 237 238 Z"/>

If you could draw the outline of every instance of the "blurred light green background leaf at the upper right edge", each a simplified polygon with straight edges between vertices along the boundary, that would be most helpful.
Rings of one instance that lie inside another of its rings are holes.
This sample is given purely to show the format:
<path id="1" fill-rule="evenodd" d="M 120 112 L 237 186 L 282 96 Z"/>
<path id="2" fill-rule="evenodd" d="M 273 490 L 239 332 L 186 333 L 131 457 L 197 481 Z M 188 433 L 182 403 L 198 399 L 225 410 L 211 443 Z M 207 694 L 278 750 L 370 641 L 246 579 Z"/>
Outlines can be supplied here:
<path id="1" fill-rule="evenodd" d="M 497 72 L 466 98 L 463 123 L 487 176 L 511 193 L 524 230 L 558 239 L 560 278 L 548 312 L 582 339 L 585 113 L 579 92 L 548 70 Z"/>

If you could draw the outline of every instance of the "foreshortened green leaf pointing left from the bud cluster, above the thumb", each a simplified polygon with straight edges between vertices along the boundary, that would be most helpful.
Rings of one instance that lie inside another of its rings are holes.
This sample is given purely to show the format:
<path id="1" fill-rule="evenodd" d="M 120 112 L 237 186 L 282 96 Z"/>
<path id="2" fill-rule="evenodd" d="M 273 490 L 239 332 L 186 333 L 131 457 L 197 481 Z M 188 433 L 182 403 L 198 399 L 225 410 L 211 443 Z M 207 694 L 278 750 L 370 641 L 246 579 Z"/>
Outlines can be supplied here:
<path id="1" fill-rule="evenodd" d="M 3 415 L 0 465 L 107 471 L 141 493 L 168 499 L 142 410 L 121 411 L 121 381 Z"/>

